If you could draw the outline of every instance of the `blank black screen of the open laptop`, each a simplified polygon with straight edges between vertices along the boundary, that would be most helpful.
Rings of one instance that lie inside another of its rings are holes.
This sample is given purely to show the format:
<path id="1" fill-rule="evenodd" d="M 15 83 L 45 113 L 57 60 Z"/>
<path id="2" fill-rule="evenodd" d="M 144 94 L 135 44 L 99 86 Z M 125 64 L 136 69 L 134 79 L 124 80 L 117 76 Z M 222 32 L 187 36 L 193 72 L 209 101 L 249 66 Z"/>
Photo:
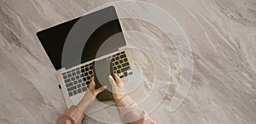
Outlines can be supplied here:
<path id="1" fill-rule="evenodd" d="M 71 68 L 126 45 L 113 6 L 38 31 L 37 36 L 55 70 Z"/>

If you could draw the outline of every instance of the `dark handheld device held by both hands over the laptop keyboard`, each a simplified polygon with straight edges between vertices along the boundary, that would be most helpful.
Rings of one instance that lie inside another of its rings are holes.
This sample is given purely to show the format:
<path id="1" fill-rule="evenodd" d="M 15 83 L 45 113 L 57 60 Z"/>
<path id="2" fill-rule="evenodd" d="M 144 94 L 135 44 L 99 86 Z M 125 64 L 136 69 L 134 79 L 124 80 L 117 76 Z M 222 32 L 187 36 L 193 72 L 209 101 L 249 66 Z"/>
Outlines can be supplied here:
<path id="1" fill-rule="evenodd" d="M 112 61 L 110 59 L 102 59 L 94 62 L 93 65 L 94 68 L 94 80 L 96 83 L 95 88 L 102 87 L 104 85 L 107 85 L 108 88 L 104 90 L 102 93 L 99 93 L 96 96 L 96 99 L 100 101 L 107 101 L 107 100 L 113 100 L 112 90 L 111 90 L 111 84 L 108 81 L 108 76 L 113 76 L 113 70 L 112 70 Z"/>

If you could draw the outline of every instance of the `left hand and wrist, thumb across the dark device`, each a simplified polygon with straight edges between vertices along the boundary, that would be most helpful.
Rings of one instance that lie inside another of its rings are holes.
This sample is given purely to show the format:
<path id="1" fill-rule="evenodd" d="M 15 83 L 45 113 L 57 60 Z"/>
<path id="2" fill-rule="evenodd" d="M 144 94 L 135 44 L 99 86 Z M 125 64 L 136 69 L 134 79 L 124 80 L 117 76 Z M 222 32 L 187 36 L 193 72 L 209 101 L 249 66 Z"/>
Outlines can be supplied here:
<path id="1" fill-rule="evenodd" d="M 77 104 L 79 110 L 84 112 L 96 99 L 97 94 L 102 93 L 108 86 L 103 86 L 95 89 L 94 76 L 91 77 L 91 81 L 88 87 L 88 91 L 85 93 L 84 98 Z"/>

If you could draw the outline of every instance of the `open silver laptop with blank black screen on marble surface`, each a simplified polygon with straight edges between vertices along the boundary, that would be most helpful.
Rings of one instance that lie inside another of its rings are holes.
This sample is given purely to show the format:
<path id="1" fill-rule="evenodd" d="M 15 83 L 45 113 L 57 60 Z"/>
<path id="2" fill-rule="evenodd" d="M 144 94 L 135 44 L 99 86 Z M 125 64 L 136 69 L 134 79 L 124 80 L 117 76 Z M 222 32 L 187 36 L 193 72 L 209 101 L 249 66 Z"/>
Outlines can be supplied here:
<path id="1" fill-rule="evenodd" d="M 106 71 L 106 82 L 97 80 L 96 88 L 102 83 L 110 88 L 97 96 L 100 101 L 113 99 L 107 75 L 116 73 L 123 81 L 132 75 L 131 53 L 113 6 L 38 31 L 37 37 L 55 67 L 67 107 L 79 103 L 96 73 Z"/>

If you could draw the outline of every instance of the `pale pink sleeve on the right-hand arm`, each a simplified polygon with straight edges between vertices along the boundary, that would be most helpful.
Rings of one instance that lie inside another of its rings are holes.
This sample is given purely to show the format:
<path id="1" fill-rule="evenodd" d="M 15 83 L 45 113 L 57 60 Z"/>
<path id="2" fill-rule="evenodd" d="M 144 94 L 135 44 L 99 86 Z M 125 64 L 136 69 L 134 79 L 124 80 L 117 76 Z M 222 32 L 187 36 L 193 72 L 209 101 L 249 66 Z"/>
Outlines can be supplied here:
<path id="1" fill-rule="evenodd" d="M 147 115 L 147 113 L 139 108 L 139 106 L 129 97 L 121 99 L 117 106 L 120 111 L 121 121 L 130 124 L 155 124 L 153 120 Z"/>

